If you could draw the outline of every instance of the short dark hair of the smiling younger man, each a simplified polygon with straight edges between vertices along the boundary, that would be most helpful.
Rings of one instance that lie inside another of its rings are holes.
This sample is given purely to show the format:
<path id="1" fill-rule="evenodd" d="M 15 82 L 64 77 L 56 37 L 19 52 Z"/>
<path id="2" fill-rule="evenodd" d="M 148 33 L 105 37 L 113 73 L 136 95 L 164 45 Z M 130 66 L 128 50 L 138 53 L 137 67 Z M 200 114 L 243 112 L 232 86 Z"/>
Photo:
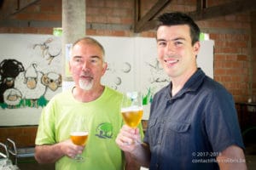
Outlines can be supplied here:
<path id="1" fill-rule="evenodd" d="M 200 28 L 195 24 L 195 21 L 189 17 L 188 14 L 183 14 L 181 12 L 161 14 L 157 18 L 157 22 L 157 30 L 160 26 L 188 25 L 190 29 L 192 45 L 199 41 Z"/>

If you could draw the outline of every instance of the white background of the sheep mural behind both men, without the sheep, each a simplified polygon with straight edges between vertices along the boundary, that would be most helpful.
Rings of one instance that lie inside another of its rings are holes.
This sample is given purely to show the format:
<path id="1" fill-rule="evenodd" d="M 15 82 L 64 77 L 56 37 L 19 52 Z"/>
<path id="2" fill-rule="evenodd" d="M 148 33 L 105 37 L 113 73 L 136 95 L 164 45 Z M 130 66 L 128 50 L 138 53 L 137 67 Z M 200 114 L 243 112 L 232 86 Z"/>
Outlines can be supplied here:
<path id="1" fill-rule="evenodd" d="M 40 48 L 33 48 L 36 43 L 43 43 L 48 38 L 54 41 L 49 43 L 51 53 L 61 48 L 61 38 L 51 35 L 33 34 L 0 34 L 0 62 L 3 59 L 18 59 L 24 66 L 32 62 L 38 63 L 42 71 L 62 71 L 61 56 L 55 58 L 51 65 L 42 57 Z M 102 78 L 102 83 L 121 92 L 140 90 L 148 94 L 150 89 L 153 95 L 169 82 L 168 77 L 160 68 L 156 60 L 156 42 L 154 38 L 146 37 L 95 37 L 102 43 L 106 51 L 108 71 Z M 201 42 L 201 51 L 198 55 L 198 65 L 213 77 L 213 41 Z M 64 88 L 70 86 L 64 82 Z M 58 91 L 59 93 L 60 91 Z M 0 126 L 34 125 L 42 108 L 0 108 Z M 147 119 L 148 111 L 144 113 Z"/>

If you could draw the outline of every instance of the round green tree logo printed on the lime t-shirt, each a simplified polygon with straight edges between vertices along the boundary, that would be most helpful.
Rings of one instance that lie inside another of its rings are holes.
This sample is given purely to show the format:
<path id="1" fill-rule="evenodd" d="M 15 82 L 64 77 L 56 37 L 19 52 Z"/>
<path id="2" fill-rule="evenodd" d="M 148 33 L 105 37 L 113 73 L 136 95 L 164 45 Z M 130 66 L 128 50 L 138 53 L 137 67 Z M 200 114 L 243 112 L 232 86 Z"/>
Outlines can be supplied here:
<path id="1" fill-rule="evenodd" d="M 112 139 L 113 125 L 109 122 L 103 122 L 96 128 L 96 136 L 101 139 Z"/>

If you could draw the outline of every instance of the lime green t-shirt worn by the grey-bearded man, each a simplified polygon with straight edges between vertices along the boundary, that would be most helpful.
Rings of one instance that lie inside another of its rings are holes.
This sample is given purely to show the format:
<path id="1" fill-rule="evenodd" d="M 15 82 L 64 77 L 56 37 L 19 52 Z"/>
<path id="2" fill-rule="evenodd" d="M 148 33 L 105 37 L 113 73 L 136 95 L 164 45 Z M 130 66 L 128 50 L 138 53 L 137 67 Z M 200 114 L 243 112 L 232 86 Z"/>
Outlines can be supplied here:
<path id="1" fill-rule="evenodd" d="M 96 100 L 82 103 L 73 98 L 72 90 L 55 95 L 44 108 L 36 138 L 36 144 L 55 144 L 69 139 L 69 132 L 76 116 L 83 115 L 90 134 L 83 156 L 76 162 L 63 156 L 56 161 L 56 170 L 124 169 L 125 156 L 115 143 L 123 125 L 120 113 L 122 94 L 105 87 Z M 143 134 L 142 126 L 140 125 Z"/>

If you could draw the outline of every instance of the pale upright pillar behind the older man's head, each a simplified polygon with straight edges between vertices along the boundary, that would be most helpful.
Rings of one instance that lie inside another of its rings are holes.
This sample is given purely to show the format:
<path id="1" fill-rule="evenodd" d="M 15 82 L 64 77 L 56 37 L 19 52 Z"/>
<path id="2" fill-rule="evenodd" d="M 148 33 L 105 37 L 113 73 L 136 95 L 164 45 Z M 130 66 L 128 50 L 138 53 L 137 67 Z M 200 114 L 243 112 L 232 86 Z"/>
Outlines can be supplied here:
<path id="1" fill-rule="evenodd" d="M 85 0 L 62 0 L 62 65 L 63 81 L 71 81 L 67 75 L 66 44 L 73 43 L 80 37 L 85 36 Z M 65 65 L 65 66 L 64 66 Z"/>

